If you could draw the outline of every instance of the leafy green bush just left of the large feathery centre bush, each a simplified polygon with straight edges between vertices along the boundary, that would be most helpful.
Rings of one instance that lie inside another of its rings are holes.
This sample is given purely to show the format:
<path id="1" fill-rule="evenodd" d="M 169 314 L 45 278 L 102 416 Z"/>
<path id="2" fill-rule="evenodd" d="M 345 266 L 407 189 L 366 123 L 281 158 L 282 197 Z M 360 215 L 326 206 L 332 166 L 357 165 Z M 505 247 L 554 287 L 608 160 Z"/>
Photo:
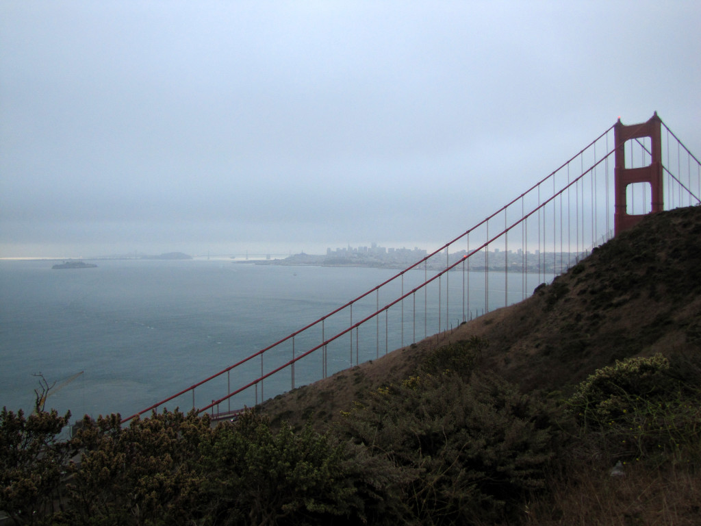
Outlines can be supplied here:
<path id="1" fill-rule="evenodd" d="M 203 452 L 216 524 L 379 524 L 402 507 L 396 468 L 311 425 L 273 433 L 266 417 L 247 412 L 217 427 Z"/>

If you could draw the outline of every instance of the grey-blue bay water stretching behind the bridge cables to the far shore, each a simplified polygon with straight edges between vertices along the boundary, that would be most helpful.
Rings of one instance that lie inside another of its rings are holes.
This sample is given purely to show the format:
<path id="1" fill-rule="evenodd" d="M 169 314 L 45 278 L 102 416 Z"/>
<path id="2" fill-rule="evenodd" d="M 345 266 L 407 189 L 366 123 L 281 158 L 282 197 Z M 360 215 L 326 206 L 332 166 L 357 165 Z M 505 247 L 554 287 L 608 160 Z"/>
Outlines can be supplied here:
<path id="1" fill-rule="evenodd" d="M 386 269 L 259 266 L 224 259 L 97 264 L 95 269 L 53 270 L 52 262 L 0 261 L 0 406 L 32 410 L 39 386 L 34 375 L 41 373 L 56 382 L 48 407 L 71 410 L 74 417 L 111 412 L 127 416 L 277 342 L 396 274 Z M 464 274 L 451 273 L 449 288 L 445 281 L 436 282 L 426 295 L 417 292 L 369 323 L 369 330 L 330 344 L 328 374 L 409 345 L 441 326 L 456 326 L 463 316 L 475 316 L 484 308 L 484 277 L 465 274 L 471 315 L 463 315 Z M 490 282 L 498 283 L 500 278 L 493 274 L 498 273 L 490 273 Z M 423 271 L 408 272 L 404 283 L 397 281 L 391 290 L 369 295 L 352 313 L 346 309 L 329 318 L 325 337 L 372 313 L 398 292 L 411 290 L 423 277 Z M 509 294 L 515 301 L 521 297 L 522 282 L 510 279 Z M 503 290 L 503 276 L 501 280 Z M 526 280 L 530 293 L 538 277 L 529 275 Z M 494 288 L 491 308 L 505 301 L 499 286 Z M 295 349 L 290 342 L 266 353 L 266 370 L 285 363 L 292 352 L 319 344 L 320 331 L 315 328 L 297 337 Z M 212 387 L 216 392 L 198 393 L 196 405 L 224 396 L 226 382 L 231 389 L 250 382 L 260 367 L 259 360 L 252 360 Z M 312 382 L 321 375 L 321 354 L 315 353 L 297 367 L 295 382 Z M 290 372 L 278 373 L 266 381 L 264 396 L 291 386 Z M 249 391 L 233 403 L 252 405 L 257 398 Z M 256 396 L 262 398 L 263 393 Z M 192 398 L 169 407 L 175 405 L 188 410 Z"/>

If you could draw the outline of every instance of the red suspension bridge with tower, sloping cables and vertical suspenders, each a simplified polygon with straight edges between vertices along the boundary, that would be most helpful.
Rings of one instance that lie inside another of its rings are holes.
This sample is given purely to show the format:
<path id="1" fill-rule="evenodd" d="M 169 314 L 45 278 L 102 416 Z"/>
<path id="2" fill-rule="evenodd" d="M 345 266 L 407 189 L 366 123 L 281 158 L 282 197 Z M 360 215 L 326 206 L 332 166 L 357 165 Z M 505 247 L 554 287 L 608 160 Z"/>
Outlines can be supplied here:
<path id="1" fill-rule="evenodd" d="M 618 119 L 552 173 L 423 259 L 122 422 L 166 404 L 231 417 L 264 401 L 266 384 L 275 386 L 273 395 L 285 384 L 295 389 L 451 330 L 472 319 L 476 304 L 479 316 L 480 308 L 484 313 L 522 301 L 534 280 L 554 278 L 649 213 L 698 205 L 700 195 L 700 161 L 656 112 L 639 124 Z"/>

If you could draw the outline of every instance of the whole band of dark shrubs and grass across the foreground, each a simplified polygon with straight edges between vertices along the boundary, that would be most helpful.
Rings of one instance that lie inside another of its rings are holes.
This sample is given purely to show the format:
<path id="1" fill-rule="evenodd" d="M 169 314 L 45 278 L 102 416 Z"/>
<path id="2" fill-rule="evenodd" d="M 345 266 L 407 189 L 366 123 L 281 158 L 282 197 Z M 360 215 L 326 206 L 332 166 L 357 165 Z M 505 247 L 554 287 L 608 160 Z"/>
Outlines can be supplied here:
<path id="1" fill-rule="evenodd" d="M 479 372 L 484 345 L 438 348 L 325 433 L 176 410 L 57 440 L 69 415 L 4 409 L 0 508 L 18 525 L 697 523 L 698 355 L 623 360 L 559 399 Z"/>

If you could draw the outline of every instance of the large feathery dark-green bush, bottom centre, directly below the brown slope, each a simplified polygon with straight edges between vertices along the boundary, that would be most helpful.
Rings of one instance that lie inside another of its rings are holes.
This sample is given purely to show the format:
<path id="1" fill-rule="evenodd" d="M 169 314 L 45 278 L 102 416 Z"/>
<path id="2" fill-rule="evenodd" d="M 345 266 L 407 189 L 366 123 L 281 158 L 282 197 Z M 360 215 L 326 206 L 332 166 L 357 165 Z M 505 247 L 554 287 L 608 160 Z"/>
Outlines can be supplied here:
<path id="1" fill-rule="evenodd" d="M 346 433 L 401 466 L 425 524 L 510 515 L 544 486 L 554 455 L 550 409 L 494 376 L 411 377 L 347 414 Z"/>

